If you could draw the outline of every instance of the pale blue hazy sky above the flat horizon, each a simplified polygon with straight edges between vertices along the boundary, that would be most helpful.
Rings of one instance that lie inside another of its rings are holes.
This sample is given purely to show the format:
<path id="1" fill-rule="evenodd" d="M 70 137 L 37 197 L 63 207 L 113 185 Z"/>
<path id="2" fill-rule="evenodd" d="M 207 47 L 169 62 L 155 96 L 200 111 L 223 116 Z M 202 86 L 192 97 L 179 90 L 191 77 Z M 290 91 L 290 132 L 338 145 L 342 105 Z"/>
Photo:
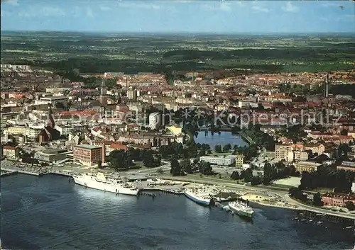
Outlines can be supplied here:
<path id="1" fill-rule="evenodd" d="M 1 30 L 355 33 L 355 1 L 1 0 Z"/>

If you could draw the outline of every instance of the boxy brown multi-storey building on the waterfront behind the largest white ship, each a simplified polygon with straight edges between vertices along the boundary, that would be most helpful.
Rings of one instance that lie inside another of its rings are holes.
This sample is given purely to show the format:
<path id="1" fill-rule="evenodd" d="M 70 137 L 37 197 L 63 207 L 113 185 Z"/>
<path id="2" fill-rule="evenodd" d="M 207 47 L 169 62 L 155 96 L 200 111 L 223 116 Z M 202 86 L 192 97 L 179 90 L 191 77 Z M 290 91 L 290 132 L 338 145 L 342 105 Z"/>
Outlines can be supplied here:
<path id="1" fill-rule="evenodd" d="M 97 166 L 104 163 L 106 151 L 104 146 L 80 144 L 74 146 L 74 161 L 85 166 Z"/>

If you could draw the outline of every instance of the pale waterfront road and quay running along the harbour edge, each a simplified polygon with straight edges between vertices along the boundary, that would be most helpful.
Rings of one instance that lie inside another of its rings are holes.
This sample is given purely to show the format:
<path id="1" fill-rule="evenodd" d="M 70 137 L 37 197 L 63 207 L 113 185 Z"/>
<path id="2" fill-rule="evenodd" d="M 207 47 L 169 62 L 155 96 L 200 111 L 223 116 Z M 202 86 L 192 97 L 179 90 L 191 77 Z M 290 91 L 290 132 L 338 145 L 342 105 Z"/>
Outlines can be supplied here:
<path id="1" fill-rule="evenodd" d="M 166 161 L 163 162 L 164 165 L 160 166 L 157 169 L 160 169 L 161 171 L 167 171 L 170 169 L 170 164 Z M 221 180 L 217 178 L 200 178 L 200 176 L 193 176 L 193 175 L 188 175 L 188 176 L 168 176 L 168 175 L 161 175 L 161 176 L 156 176 L 156 170 L 154 175 L 151 175 L 152 169 L 145 169 L 145 170 L 138 170 L 138 171 L 127 171 L 123 172 L 120 174 L 120 176 L 129 176 L 132 174 L 148 174 L 148 176 L 156 177 L 156 178 L 161 178 L 163 180 L 170 180 L 170 181 L 178 181 L 181 183 L 200 183 L 200 184 L 206 184 L 206 185 L 211 185 L 211 186 L 218 186 L 219 188 L 229 188 L 233 191 L 239 191 L 239 192 L 244 192 L 244 193 L 253 193 L 258 195 L 259 197 L 262 196 L 273 196 L 273 198 L 269 199 L 259 199 L 259 200 L 253 200 L 253 202 L 259 203 L 261 205 L 266 205 L 266 206 L 271 206 L 271 207 L 278 207 L 278 208 L 289 208 L 289 209 L 294 209 L 294 210 L 308 210 L 311 212 L 318 212 L 318 213 L 323 213 L 327 215 L 334 215 L 338 217 L 346 217 L 352 220 L 355 220 L 355 215 L 352 213 L 346 213 L 346 212 L 339 212 L 339 211 L 332 211 L 332 210 L 327 210 L 324 208 L 315 208 L 310 205 L 305 205 L 303 203 L 297 202 L 297 200 L 293 200 L 292 198 L 289 197 L 288 191 L 285 190 L 275 190 L 273 187 L 266 187 L 266 186 L 246 186 L 245 184 L 238 184 L 234 183 L 234 181 L 226 181 L 226 180 Z M 28 164 L 23 164 L 21 162 L 16 162 L 16 161 L 1 161 L 1 170 L 4 171 L 9 171 L 9 172 L 18 172 L 22 174 L 32 174 L 35 176 L 40 176 L 43 174 L 60 174 L 62 176 L 72 176 L 74 174 L 89 174 L 92 169 L 88 167 L 83 167 L 83 166 L 51 166 L 51 167 L 46 167 L 46 168 L 40 168 L 40 167 L 31 167 L 28 166 Z M 114 173 L 113 171 L 109 169 L 101 169 L 100 171 L 106 172 L 106 174 L 112 174 Z M 143 184 L 143 185 L 142 185 Z M 182 188 L 182 186 L 177 185 L 177 186 L 155 186 L 154 188 L 148 188 L 146 183 L 140 183 L 139 186 L 141 188 L 147 188 L 151 191 L 173 191 L 172 193 L 180 193 L 178 190 Z M 275 199 L 277 197 L 277 199 Z"/>

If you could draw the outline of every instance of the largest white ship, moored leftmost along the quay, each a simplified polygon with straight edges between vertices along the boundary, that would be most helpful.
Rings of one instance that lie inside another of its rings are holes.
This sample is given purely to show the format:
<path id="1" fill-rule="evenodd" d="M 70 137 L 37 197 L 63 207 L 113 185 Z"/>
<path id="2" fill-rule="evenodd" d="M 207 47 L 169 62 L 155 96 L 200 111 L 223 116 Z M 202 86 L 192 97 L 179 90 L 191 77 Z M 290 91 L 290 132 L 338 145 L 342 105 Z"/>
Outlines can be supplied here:
<path id="1" fill-rule="evenodd" d="M 97 176 L 82 175 L 72 177 L 74 178 L 75 183 L 88 188 L 124 195 L 138 195 L 139 192 L 139 189 L 131 186 L 131 184 L 125 183 L 119 179 L 107 178 L 102 172 L 97 173 Z"/>

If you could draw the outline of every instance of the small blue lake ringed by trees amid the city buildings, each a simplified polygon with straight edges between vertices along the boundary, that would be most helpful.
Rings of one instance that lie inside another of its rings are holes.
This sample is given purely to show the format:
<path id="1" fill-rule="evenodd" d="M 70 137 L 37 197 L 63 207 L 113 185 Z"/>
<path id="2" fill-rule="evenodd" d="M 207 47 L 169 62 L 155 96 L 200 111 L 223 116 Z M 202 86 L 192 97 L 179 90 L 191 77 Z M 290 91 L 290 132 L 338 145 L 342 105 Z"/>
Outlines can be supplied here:
<path id="1" fill-rule="evenodd" d="M 230 143 L 231 147 L 233 148 L 234 145 L 238 145 L 239 147 L 248 146 L 242 138 L 241 135 L 232 135 L 231 132 L 221 131 L 220 133 L 214 133 L 212 135 L 211 132 L 208 131 L 206 135 L 205 131 L 198 132 L 197 137 L 194 137 L 196 143 L 200 144 L 209 144 L 211 149 L 214 149 L 214 146 L 221 145 L 222 147 L 225 144 Z"/>

